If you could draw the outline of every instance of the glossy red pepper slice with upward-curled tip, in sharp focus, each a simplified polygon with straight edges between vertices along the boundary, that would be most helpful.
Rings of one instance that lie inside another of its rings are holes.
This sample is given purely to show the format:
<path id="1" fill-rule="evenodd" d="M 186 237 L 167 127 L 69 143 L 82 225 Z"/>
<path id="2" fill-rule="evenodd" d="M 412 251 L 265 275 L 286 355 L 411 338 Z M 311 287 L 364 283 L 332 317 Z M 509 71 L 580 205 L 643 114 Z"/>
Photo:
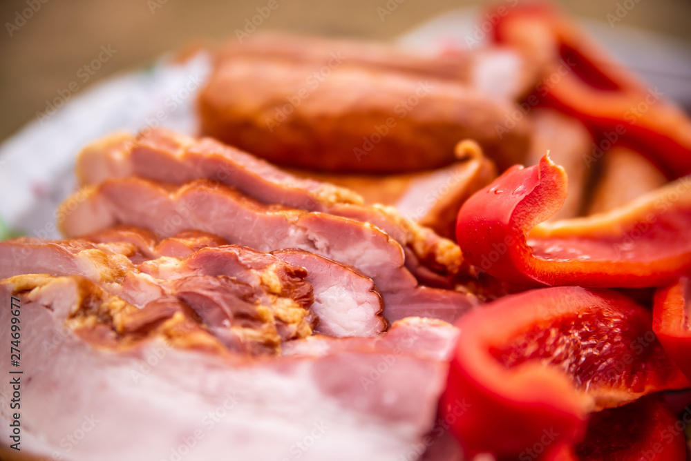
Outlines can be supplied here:
<path id="1" fill-rule="evenodd" d="M 645 288 L 691 268 L 691 178 L 590 217 L 536 225 L 567 193 L 563 168 L 545 156 L 509 168 L 458 213 L 464 258 L 517 284 Z"/>

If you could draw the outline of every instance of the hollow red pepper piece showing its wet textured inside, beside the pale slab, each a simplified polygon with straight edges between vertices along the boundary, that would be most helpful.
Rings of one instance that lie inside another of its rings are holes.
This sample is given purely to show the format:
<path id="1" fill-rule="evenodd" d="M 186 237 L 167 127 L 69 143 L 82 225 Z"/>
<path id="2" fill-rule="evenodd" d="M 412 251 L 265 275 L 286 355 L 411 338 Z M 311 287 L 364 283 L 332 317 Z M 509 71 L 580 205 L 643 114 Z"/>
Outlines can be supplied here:
<path id="1" fill-rule="evenodd" d="M 463 317 L 440 410 L 472 456 L 529 456 L 581 440 L 586 418 L 691 384 L 652 333 L 650 311 L 614 291 L 542 288 Z"/>

